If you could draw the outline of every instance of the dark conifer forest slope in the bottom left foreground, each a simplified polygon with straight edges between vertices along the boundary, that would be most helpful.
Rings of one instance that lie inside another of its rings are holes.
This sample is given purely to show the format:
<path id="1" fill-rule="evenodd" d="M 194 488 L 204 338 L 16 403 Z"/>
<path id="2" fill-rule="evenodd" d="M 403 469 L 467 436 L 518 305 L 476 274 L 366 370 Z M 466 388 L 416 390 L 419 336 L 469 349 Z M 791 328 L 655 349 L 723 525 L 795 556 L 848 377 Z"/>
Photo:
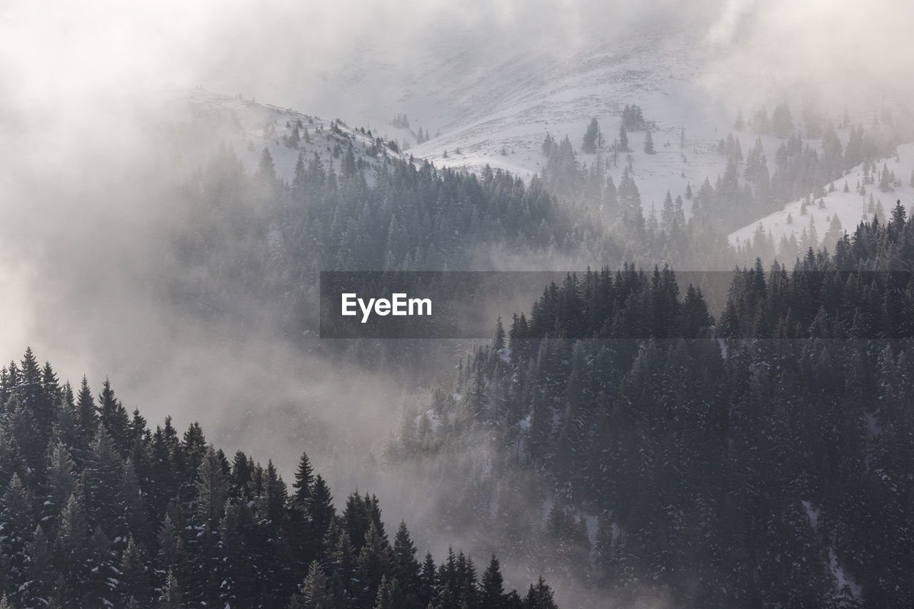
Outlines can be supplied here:
<path id="1" fill-rule="evenodd" d="M 106 379 L 61 384 L 31 349 L 0 370 L 2 607 L 505 607 L 557 605 L 542 578 L 507 592 L 494 557 L 417 560 L 377 497 L 337 511 L 302 454 L 292 488 L 270 461 L 231 461 L 196 422 L 147 426 Z"/>

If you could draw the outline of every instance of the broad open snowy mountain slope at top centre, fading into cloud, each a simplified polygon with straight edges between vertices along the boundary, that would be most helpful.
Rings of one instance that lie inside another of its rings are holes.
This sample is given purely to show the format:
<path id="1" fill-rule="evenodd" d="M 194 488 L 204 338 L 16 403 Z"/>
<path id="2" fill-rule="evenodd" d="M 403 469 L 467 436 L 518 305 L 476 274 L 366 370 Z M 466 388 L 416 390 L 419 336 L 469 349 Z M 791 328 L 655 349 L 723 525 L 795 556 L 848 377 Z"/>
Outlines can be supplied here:
<path id="1" fill-rule="evenodd" d="M 456 40 L 418 59 L 397 94 L 388 82 L 387 95 L 369 95 L 378 80 L 402 78 L 393 63 L 376 62 L 372 69 L 350 65 L 324 79 L 342 91 L 352 112 L 369 122 L 385 121 L 382 131 L 407 142 L 416 157 L 436 166 L 501 167 L 525 179 L 545 162 L 540 146 L 547 133 L 558 140 L 569 135 L 579 153 L 591 118 L 600 124 L 604 144 L 596 154 L 579 154 L 579 162 L 590 165 L 598 156 L 611 156 L 622 109 L 637 104 L 655 124 L 655 155 L 643 153 L 643 132 L 629 134 L 645 215 L 652 203 L 660 208 L 667 190 L 675 196 L 689 182 L 696 187 L 723 172 L 726 163 L 716 146 L 729 133 L 736 109 L 705 86 L 709 50 L 700 37 L 642 28 L 572 49 L 534 42 L 499 48 L 485 60 L 473 50 L 480 47 L 491 43 Z M 407 116 L 409 127 L 391 124 L 399 114 Z M 422 144 L 416 137 L 420 129 L 431 136 Z M 626 155 L 620 155 L 611 171 L 617 182 L 626 164 Z"/>

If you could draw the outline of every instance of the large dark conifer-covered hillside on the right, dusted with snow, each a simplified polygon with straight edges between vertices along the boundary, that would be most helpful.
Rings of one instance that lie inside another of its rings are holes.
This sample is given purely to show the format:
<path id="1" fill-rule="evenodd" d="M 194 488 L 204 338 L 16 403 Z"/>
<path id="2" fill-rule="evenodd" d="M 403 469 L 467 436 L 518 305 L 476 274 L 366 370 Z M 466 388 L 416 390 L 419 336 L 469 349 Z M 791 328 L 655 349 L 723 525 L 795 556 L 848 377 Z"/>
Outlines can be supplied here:
<path id="1" fill-rule="evenodd" d="M 670 270 L 569 275 L 388 458 L 448 480 L 480 547 L 592 598 L 907 606 L 912 244 L 899 204 L 792 272 L 759 261 L 716 325 Z"/>

